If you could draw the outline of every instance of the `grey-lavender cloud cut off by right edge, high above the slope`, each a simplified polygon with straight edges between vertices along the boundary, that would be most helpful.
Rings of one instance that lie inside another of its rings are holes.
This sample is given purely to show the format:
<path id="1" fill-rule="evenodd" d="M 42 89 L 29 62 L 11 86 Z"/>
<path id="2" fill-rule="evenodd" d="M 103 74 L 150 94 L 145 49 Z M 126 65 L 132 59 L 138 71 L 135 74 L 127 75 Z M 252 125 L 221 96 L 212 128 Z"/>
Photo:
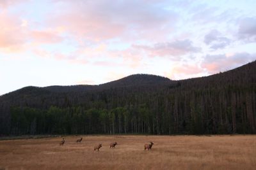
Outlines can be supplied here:
<path id="1" fill-rule="evenodd" d="M 245 41 L 256 41 L 256 18 L 244 18 L 239 22 L 238 36 Z"/>

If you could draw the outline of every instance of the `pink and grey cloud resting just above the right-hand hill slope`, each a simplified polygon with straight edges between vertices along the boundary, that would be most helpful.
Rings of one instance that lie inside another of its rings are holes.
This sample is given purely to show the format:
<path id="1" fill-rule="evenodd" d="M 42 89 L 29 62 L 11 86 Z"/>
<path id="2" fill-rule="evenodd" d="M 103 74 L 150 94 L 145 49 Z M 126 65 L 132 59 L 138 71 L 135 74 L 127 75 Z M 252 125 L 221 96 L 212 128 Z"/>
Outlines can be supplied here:
<path id="1" fill-rule="evenodd" d="M 256 59 L 255 54 L 235 53 L 232 55 L 206 55 L 201 64 L 202 68 L 207 69 L 208 73 L 214 74 L 220 71 L 234 69 Z"/>

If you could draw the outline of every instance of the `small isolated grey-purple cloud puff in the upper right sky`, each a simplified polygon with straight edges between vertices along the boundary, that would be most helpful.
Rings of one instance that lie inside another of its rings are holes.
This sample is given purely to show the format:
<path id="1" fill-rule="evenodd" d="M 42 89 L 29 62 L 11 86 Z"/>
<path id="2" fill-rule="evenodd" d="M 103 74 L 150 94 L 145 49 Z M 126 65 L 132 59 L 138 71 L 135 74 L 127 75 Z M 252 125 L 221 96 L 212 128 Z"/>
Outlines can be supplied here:
<path id="1" fill-rule="evenodd" d="M 204 43 L 209 45 L 210 48 L 217 50 L 218 48 L 225 48 L 230 45 L 231 40 L 222 36 L 219 31 L 213 29 L 204 37 Z"/>

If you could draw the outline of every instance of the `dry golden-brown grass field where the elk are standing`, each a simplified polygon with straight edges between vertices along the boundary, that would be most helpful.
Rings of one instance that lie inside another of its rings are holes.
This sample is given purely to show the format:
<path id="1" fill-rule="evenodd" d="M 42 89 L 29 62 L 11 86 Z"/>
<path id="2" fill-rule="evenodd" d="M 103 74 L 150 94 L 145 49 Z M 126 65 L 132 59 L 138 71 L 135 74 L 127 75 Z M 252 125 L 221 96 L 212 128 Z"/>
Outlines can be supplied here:
<path id="1" fill-rule="evenodd" d="M 0 169 L 255 169 L 256 136 L 80 136 L 0 141 Z M 109 143 L 116 141 L 116 148 Z M 153 141 L 151 151 L 144 144 Z M 100 151 L 93 147 L 102 143 Z"/>

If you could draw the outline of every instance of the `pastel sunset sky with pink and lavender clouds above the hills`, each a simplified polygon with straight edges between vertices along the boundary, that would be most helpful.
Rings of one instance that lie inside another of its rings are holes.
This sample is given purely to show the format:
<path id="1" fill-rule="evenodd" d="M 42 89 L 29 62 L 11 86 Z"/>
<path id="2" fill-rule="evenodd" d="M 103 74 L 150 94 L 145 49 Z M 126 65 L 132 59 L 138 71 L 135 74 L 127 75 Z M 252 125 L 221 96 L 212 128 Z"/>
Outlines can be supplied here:
<path id="1" fill-rule="evenodd" d="M 0 0 L 0 95 L 256 60 L 255 0 Z"/>

